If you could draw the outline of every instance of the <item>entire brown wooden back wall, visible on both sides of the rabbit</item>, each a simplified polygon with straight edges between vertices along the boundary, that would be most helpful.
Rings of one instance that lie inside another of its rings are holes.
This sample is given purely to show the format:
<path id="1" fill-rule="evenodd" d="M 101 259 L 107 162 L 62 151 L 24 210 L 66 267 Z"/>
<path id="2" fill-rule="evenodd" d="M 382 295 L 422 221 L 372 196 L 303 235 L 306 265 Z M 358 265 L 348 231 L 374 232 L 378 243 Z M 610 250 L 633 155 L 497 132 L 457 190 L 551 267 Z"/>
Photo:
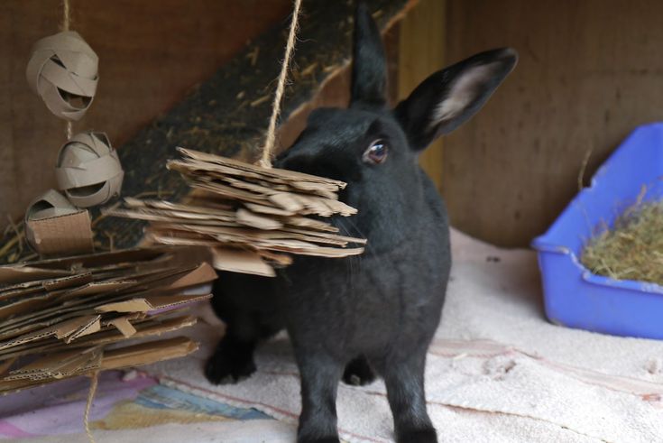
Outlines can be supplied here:
<path id="1" fill-rule="evenodd" d="M 73 29 L 99 54 L 101 76 L 75 130 L 106 131 L 116 146 L 291 8 L 290 0 L 71 1 Z M 0 227 L 55 184 L 64 122 L 32 94 L 24 69 L 32 43 L 56 32 L 60 3 L 0 1 Z M 497 245 L 529 245 L 575 195 L 587 152 L 585 183 L 636 125 L 663 118 L 660 23 L 658 0 L 419 0 L 388 45 L 398 63 L 393 95 L 474 52 L 520 52 L 479 115 L 422 156 L 452 223 Z M 346 80 L 316 103 L 343 102 Z"/>

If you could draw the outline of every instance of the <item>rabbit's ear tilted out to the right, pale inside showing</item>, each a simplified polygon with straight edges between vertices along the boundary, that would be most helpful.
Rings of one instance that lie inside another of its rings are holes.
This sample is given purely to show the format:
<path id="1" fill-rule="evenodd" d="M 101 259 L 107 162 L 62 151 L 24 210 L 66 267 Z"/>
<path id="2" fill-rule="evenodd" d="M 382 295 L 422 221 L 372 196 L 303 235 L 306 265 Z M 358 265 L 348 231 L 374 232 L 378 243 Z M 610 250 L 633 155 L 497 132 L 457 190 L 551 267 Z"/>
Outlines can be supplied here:
<path id="1" fill-rule="evenodd" d="M 422 150 L 476 113 L 518 61 L 511 48 L 485 51 L 437 71 L 396 106 L 414 150 Z"/>

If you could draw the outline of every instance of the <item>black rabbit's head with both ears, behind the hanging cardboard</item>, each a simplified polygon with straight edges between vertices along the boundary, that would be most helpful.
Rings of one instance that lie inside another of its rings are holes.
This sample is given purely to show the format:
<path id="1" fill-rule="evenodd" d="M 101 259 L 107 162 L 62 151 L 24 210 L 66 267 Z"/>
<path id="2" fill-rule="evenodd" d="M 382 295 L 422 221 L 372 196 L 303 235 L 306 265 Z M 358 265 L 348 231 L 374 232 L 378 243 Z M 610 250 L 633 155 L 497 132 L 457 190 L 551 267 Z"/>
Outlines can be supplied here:
<path id="1" fill-rule="evenodd" d="M 335 223 L 364 235 L 373 251 L 398 244 L 427 204 L 419 152 L 474 115 L 517 60 L 508 48 L 476 54 L 432 74 L 391 109 L 380 32 L 359 5 L 350 106 L 314 110 L 276 166 L 347 182 L 340 198 L 359 214 Z"/>

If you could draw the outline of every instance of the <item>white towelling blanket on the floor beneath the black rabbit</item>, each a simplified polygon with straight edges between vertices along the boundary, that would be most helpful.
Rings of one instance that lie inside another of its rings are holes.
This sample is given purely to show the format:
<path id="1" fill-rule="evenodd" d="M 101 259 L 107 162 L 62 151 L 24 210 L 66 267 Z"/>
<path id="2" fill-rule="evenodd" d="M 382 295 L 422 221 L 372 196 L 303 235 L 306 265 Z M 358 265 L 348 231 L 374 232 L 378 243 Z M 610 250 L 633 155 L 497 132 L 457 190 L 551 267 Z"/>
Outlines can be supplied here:
<path id="1" fill-rule="evenodd" d="M 552 325 L 544 318 L 534 253 L 502 250 L 457 231 L 452 245 L 447 305 L 426 372 L 428 411 L 440 441 L 663 441 L 662 341 Z M 203 346 L 194 358 L 149 371 L 163 383 L 251 405 L 294 429 L 299 380 L 287 337 L 259 349 L 251 379 L 217 387 L 202 374 L 220 337 L 209 324 L 195 330 Z M 392 440 L 382 382 L 341 385 L 337 409 L 345 440 Z M 250 434 L 236 438 L 253 441 Z"/>

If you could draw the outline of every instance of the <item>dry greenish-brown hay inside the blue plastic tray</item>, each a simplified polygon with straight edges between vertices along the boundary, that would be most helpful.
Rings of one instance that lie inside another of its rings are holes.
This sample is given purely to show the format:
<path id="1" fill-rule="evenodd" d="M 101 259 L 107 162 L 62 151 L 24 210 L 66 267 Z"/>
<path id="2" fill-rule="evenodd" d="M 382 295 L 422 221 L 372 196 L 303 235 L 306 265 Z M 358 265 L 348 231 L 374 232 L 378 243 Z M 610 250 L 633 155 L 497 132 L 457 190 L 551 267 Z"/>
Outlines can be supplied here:
<path id="1" fill-rule="evenodd" d="M 585 245 L 581 262 L 613 279 L 663 285 L 663 200 L 627 210 Z"/>

